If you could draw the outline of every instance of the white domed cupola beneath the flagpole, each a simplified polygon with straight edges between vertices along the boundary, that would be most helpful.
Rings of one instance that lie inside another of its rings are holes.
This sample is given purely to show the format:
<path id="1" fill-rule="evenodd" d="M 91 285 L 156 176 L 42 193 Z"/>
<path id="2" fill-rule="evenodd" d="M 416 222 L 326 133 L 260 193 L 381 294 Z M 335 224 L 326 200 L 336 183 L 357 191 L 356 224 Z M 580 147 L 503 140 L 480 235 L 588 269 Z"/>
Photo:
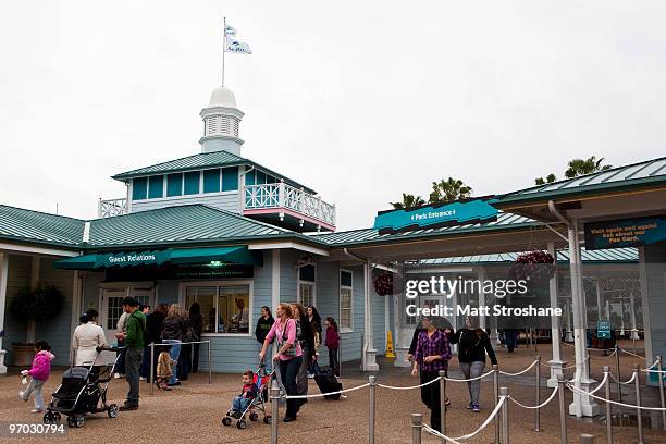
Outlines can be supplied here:
<path id="1" fill-rule="evenodd" d="M 240 156 L 243 139 L 238 137 L 238 127 L 245 114 L 236 108 L 236 97 L 231 89 L 215 88 L 208 107 L 199 115 L 203 120 L 203 137 L 199 139 L 202 152 L 229 151 Z"/>

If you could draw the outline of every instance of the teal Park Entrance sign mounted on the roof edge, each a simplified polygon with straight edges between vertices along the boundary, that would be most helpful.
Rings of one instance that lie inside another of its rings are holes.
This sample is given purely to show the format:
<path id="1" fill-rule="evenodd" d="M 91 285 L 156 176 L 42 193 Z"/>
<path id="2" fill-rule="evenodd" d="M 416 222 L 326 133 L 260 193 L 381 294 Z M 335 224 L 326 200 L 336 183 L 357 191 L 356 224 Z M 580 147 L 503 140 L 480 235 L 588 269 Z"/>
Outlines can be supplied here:
<path id="1" fill-rule="evenodd" d="M 400 210 L 380 211 L 374 218 L 374 229 L 380 234 L 434 229 L 440 226 L 483 223 L 497 220 L 497 209 L 489 198 L 428 205 Z"/>

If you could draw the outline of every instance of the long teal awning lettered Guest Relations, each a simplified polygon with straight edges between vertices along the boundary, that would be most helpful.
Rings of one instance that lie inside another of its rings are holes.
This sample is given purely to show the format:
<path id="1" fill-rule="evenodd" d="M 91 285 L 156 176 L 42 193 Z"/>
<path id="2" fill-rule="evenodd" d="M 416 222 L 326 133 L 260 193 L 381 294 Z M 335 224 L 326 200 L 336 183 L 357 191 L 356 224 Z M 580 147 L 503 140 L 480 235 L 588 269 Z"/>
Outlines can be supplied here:
<path id="1" fill-rule="evenodd" d="M 260 258 L 250 252 L 247 246 L 238 246 L 98 252 L 61 259 L 55 261 L 54 266 L 69 270 L 102 270 L 111 267 L 178 266 L 210 262 L 236 263 L 242 266 L 261 264 Z"/>

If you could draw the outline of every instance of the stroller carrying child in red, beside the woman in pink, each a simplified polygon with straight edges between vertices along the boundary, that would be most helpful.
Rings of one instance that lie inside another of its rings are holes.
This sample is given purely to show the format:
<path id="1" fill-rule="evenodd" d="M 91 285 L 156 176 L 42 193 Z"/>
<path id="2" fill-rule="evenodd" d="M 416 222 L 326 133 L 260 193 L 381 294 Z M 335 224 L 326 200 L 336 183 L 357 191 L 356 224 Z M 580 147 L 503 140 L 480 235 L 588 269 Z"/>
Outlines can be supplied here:
<path id="1" fill-rule="evenodd" d="M 245 417 L 249 414 L 250 421 L 259 419 L 259 410 L 263 414 L 263 422 L 271 423 L 271 416 L 267 415 L 264 404 L 268 402 L 269 385 L 271 383 L 273 372 L 266 373 L 266 365 L 261 363 L 257 372 L 246 370 L 243 372 L 243 390 L 240 394 L 234 397 L 232 408 L 222 419 L 224 425 L 231 425 L 232 418 L 237 419 L 236 427 L 245 429 L 247 422 Z"/>

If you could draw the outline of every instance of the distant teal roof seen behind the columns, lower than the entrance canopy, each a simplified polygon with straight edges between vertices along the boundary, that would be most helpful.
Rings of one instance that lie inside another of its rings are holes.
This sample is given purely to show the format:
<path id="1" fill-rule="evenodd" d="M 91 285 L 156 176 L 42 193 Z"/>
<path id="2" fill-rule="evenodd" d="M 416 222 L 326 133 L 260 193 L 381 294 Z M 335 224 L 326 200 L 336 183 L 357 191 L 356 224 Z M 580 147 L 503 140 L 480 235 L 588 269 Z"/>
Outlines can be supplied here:
<path id="1" fill-rule="evenodd" d="M 496 255 L 458 256 L 451 258 L 424 259 L 419 264 L 429 266 L 454 266 L 454 264 L 489 264 L 489 263 L 513 263 L 519 252 L 502 252 Z M 614 248 L 605 250 L 581 249 L 583 262 L 638 262 L 637 248 Z M 557 251 L 558 262 L 569 262 L 569 251 Z"/>

